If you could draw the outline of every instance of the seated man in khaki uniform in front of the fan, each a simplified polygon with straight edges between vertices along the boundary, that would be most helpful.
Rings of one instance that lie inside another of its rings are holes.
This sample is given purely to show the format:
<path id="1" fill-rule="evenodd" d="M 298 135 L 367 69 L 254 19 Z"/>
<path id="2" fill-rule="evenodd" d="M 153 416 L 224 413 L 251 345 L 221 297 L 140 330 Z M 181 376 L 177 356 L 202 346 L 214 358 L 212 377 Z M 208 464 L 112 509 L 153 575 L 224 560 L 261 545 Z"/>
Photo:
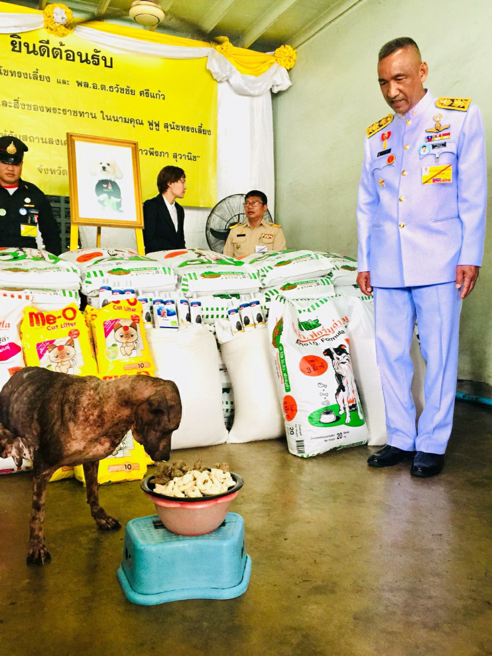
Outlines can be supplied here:
<path id="1" fill-rule="evenodd" d="M 253 190 L 245 195 L 244 211 L 248 220 L 230 228 L 224 255 L 241 259 L 251 253 L 283 251 L 287 248 L 281 227 L 263 219 L 267 209 L 263 192 Z"/>

